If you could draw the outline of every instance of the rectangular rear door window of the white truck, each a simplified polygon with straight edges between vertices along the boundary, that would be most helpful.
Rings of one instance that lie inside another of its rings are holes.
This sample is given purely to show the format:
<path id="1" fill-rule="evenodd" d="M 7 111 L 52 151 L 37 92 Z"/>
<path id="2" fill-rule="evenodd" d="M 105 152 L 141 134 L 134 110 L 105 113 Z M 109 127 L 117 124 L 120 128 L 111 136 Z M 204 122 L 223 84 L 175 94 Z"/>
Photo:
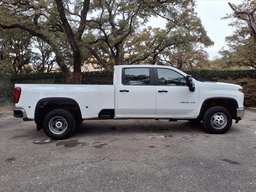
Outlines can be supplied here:
<path id="1" fill-rule="evenodd" d="M 125 68 L 124 85 L 150 85 L 149 68 Z"/>

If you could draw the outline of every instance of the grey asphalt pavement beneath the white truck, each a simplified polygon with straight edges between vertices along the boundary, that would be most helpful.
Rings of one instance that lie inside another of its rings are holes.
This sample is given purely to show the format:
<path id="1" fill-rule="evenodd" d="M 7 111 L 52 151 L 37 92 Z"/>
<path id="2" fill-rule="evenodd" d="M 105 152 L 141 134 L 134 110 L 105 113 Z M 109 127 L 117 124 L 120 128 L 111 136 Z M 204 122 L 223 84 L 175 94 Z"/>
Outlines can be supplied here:
<path id="1" fill-rule="evenodd" d="M 0 118 L 0 188 L 31 191 L 256 191 L 256 112 L 222 135 L 168 120 L 88 120 L 54 141 Z"/>

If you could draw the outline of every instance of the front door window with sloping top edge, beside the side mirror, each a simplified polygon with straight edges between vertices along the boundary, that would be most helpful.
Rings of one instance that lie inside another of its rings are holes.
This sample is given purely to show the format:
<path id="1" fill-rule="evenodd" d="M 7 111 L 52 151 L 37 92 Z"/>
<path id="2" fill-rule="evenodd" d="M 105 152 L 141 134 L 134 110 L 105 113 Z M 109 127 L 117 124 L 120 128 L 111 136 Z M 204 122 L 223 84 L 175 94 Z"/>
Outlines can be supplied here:
<path id="1" fill-rule="evenodd" d="M 176 71 L 157 68 L 159 85 L 186 85 L 186 78 Z"/>

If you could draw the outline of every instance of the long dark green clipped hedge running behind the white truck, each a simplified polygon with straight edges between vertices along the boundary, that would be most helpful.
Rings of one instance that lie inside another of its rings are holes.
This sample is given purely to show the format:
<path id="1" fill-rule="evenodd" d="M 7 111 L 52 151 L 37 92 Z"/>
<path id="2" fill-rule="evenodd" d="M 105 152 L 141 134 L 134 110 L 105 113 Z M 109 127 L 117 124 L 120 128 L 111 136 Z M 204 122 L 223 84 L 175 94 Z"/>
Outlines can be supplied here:
<path id="1" fill-rule="evenodd" d="M 185 71 L 200 81 L 218 81 L 220 79 L 256 79 L 256 70 L 190 70 Z M 232 81 L 232 80 L 231 80 Z M 13 102 L 14 84 L 64 84 L 65 76 L 61 72 L 0 75 L 0 104 Z M 232 82 L 231 82 L 232 83 Z M 113 72 L 82 72 L 82 84 L 113 84 Z"/>

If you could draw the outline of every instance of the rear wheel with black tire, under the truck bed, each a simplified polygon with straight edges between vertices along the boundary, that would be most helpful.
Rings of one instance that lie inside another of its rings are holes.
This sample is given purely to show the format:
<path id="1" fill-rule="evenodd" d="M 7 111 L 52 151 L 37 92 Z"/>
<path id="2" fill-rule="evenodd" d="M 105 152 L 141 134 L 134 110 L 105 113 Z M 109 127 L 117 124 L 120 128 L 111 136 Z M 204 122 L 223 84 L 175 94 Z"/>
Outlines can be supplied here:
<path id="1" fill-rule="evenodd" d="M 76 128 L 76 120 L 70 112 L 56 109 L 46 114 L 43 126 L 44 132 L 48 137 L 53 140 L 62 140 L 73 133 Z"/>

